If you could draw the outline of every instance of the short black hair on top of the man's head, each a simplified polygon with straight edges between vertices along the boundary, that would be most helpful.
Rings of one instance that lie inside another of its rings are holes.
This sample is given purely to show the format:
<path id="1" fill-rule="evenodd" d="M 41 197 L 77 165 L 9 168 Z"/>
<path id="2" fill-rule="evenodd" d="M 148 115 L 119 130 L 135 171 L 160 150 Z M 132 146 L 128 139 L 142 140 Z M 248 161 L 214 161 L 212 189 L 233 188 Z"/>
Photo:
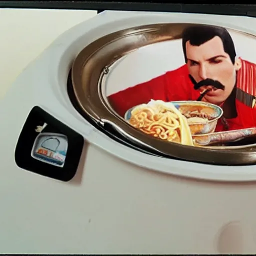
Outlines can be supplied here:
<path id="1" fill-rule="evenodd" d="M 235 47 L 231 35 L 223 27 L 211 26 L 211 25 L 194 25 L 189 26 L 183 31 L 182 46 L 187 63 L 186 56 L 186 42 L 189 41 L 193 46 L 200 46 L 201 44 L 211 40 L 215 36 L 220 37 L 223 42 L 224 51 L 229 55 L 232 63 L 235 63 Z"/>

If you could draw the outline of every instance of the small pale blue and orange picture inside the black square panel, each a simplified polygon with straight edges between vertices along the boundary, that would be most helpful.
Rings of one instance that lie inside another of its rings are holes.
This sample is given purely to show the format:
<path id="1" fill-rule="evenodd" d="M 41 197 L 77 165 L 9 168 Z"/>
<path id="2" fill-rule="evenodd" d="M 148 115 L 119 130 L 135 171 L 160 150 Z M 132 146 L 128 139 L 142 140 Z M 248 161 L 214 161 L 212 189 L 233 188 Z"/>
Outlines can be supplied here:
<path id="1" fill-rule="evenodd" d="M 37 135 L 31 156 L 39 161 L 46 162 L 55 166 L 63 167 L 68 147 L 67 137 L 58 133 L 43 133 L 43 129 L 47 126 L 37 126 L 35 131 Z"/>

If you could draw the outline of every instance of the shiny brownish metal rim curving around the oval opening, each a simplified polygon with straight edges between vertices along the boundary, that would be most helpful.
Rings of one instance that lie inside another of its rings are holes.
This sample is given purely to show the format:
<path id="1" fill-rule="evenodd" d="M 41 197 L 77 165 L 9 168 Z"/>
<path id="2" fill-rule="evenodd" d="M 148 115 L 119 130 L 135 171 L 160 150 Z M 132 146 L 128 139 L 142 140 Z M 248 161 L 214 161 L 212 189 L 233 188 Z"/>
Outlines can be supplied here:
<path id="1" fill-rule="evenodd" d="M 90 43 L 77 55 L 72 66 L 72 82 L 77 102 L 82 111 L 95 122 L 101 125 L 109 123 L 133 142 L 166 156 L 216 165 L 255 164 L 255 146 L 220 150 L 163 141 L 129 125 L 106 100 L 102 79 L 113 63 L 140 47 L 180 39 L 183 29 L 191 25 L 194 24 L 165 23 L 137 26 L 108 34 Z"/>

